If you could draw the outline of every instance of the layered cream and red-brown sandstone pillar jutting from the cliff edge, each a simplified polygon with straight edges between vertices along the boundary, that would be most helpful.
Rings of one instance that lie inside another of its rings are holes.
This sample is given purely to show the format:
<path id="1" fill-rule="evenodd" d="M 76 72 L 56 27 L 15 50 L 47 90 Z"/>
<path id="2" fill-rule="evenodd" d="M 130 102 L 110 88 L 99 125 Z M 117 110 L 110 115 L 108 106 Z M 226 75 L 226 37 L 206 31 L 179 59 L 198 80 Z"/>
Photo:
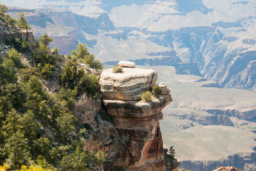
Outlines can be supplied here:
<path id="1" fill-rule="evenodd" d="M 159 120 L 163 119 L 161 110 L 172 101 L 170 91 L 163 84 L 159 98 L 148 103 L 140 100 L 141 94 L 156 85 L 156 80 L 156 71 L 139 68 L 123 68 L 122 73 L 109 69 L 100 75 L 103 103 L 125 145 L 118 152 L 116 167 L 166 170 Z"/>

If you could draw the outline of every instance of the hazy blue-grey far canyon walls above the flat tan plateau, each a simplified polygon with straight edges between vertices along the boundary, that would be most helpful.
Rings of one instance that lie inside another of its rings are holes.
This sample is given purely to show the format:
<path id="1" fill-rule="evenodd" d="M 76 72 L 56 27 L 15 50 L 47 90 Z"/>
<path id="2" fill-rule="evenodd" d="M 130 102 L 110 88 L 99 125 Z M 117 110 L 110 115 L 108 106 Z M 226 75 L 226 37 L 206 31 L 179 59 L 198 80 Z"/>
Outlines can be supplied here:
<path id="1" fill-rule="evenodd" d="M 13 1 L 3 3 L 14 6 Z M 82 4 L 35 1 L 31 3 L 33 10 L 10 8 L 9 13 L 15 16 L 24 11 L 36 38 L 49 34 L 55 39 L 51 47 L 60 47 L 65 54 L 77 42 L 86 43 L 102 62 L 159 61 L 157 65 L 177 66 L 178 73 L 204 75 L 220 87 L 255 91 L 254 1 L 225 0 L 218 1 L 219 5 L 210 0 L 189 5 L 178 0 Z"/>

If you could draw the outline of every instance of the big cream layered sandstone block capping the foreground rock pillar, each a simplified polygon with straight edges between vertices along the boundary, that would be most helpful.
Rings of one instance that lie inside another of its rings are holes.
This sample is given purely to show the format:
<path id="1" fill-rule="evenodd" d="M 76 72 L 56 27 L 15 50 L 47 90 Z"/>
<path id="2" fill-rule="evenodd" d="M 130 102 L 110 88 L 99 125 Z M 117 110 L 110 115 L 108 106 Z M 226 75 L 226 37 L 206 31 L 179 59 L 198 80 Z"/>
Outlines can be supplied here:
<path id="1" fill-rule="evenodd" d="M 157 71 L 140 68 L 123 68 L 122 73 L 112 69 L 102 71 L 100 91 L 108 100 L 140 100 L 141 94 L 156 85 Z"/>

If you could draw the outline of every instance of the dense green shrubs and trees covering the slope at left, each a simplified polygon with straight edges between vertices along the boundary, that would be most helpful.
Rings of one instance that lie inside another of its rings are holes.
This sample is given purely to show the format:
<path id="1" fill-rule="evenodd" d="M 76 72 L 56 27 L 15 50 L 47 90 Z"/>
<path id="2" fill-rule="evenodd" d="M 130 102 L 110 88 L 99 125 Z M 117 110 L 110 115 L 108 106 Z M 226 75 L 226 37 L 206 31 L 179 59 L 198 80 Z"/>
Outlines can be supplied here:
<path id="1" fill-rule="evenodd" d="M 24 15 L 16 22 L 4 14 L 7 10 L 0 4 L 0 19 L 6 24 L 12 20 L 12 27 L 17 23 L 28 31 Z M 30 53 L 29 64 L 21 62 L 15 48 L 8 56 L 0 56 L 0 165 L 6 163 L 3 167 L 14 170 L 22 165 L 28 170 L 29 166 L 41 170 L 96 170 L 104 161 L 104 153 L 83 149 L 86 130 L 77 124 L 72 108 L 80 94 L 97 96 L 96 73 L 102 64 L 95 61 L 86 45 L 79 44 L 66 59 L 58 49 L 48 47 L 51 41 L 44 35 L 32 53 L 28 48 L 17 49 Z M 61 89 L 50 93 L 43 83 L 54 80 Z"/>

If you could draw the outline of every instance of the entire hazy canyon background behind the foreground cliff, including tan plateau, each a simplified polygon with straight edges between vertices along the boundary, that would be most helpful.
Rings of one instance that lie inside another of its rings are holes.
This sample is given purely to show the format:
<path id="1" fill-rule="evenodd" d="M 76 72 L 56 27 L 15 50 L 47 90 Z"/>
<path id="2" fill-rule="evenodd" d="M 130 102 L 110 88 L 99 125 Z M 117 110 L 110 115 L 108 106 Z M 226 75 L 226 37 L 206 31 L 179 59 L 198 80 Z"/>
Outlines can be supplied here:
<path id="1" fill-rule="evenodd" d="M 106 65 L 129 59 L 157 70 L 173 96 L 164 145 L 181 167 L 256 168 L 256 1 L 0 2 L 32 9 L 9 13 L 24 11 L 36 38 L 49 34 L 60 52 L 86 43 Z"/>

